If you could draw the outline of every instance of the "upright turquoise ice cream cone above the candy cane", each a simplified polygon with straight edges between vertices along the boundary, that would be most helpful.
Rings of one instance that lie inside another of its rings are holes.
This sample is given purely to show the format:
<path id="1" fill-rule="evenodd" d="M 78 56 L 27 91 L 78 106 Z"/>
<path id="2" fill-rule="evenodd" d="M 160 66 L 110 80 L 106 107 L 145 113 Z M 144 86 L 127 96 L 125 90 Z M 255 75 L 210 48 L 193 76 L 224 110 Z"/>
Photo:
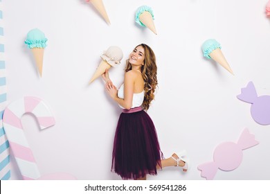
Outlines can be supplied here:
<path id="1" fill-rule="evenodd" d="M 34 55 L 35 63 L 37 65 L 40 77 L 42 77 L 43 55 L 44 48 L 47 46 L 47 40 L 48 39 L 45 37 L 44 33 L 41 30 L 35 28 L 27 33 L 26 40 L 24 41 Z"/>

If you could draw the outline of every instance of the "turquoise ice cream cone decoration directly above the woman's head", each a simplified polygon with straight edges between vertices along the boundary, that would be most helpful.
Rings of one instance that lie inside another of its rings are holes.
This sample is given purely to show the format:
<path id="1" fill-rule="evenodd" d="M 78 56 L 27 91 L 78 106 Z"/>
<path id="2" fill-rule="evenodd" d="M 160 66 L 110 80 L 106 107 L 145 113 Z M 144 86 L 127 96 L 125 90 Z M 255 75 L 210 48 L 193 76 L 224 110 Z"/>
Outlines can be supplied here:
<path id="1" fill-rule="evenodd" d="M 136 10 L 135 21 L 140 26 L 146 26 L 156 34 L 156 27 L 154 26 L 154 14 L 152 8 L 149 6 L 141 6 Z"/>

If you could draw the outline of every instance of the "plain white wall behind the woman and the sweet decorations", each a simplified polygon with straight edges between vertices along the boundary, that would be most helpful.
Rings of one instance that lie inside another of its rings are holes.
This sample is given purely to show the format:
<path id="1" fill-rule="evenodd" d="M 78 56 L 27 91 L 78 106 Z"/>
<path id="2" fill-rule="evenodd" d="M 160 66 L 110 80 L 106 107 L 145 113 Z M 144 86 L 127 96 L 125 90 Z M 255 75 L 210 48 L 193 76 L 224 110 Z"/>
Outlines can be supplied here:
<path id="1" fill-rule="evenodd" d="M 253 81 L 259 96 L 270 95 L 270 20 L 267 0 L 103 0 L 111 25 L 84 0 L 4 1 L 8 103 L 39 96 L 51 107 L 56 125 L 39 131 L 32 116 L 22 118 L 25 134 L 42 175 L 63 172 L 77 179 L 120 179 L 111 173 L 111 150 L 120 108 L 105 94 L 101 79 L 90 86 L 100 54 L 120 46 L 124 58 L 110 70 L 123 82 L 125 59 L 137 44 L 156 53 L 159 89 L 148 114 L 165 157 L 186 149 L 190 171 L 167 168 L 149 179 L 204 179 L 197 166 L 213 161 L 215 147 L 237 142 L 248 127 L 260 144 L 243 150 L 239 168 L 218 170 L 215 179 L 270 179 L 270 126 L 256 123 L 251 104 L 238 100 Z M 167 2 L 167 3 L 165 3 Z M 152 7 L 158 35 L 135 24 L 139 6 Z M 39 28 L 48 38 L 43 77 L 24 44 L 28 30 Z M 201 44 L 222 44 L 235 76 L 206 60 Z M 12 158 L 11 179 L 21 179 Z"/>

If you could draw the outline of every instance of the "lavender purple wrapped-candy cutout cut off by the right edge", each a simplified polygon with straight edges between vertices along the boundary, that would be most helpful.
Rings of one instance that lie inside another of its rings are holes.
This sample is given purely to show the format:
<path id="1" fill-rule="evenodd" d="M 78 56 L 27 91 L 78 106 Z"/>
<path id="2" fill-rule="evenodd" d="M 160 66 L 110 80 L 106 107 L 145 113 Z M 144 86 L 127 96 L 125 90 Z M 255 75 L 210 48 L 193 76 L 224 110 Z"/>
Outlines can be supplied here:
<path id="1" fill-rule="evenodd" d="M 251 103 L 251 116 L 257 123 L 270 124 L 270 96 L 258 96 L 253 82 L 249 82 L 245 88 L 242 88 L 237 98 Z"/>

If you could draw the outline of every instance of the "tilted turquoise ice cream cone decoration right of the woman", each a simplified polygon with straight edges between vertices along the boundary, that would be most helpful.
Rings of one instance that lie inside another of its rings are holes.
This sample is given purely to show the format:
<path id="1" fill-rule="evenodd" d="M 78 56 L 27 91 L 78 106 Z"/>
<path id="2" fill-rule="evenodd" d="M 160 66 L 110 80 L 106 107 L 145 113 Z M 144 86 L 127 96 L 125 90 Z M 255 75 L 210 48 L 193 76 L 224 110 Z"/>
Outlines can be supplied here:
<path id="1" fill-rule="evenodd" d="M 233 74 L 230 65 L 222 53 L 222 47 L 220 46 L 219 42 L 217 42 L 215 39 L 207 39 L 201 48 L 205 58 L 215 60 L 215 62 Z"/>

